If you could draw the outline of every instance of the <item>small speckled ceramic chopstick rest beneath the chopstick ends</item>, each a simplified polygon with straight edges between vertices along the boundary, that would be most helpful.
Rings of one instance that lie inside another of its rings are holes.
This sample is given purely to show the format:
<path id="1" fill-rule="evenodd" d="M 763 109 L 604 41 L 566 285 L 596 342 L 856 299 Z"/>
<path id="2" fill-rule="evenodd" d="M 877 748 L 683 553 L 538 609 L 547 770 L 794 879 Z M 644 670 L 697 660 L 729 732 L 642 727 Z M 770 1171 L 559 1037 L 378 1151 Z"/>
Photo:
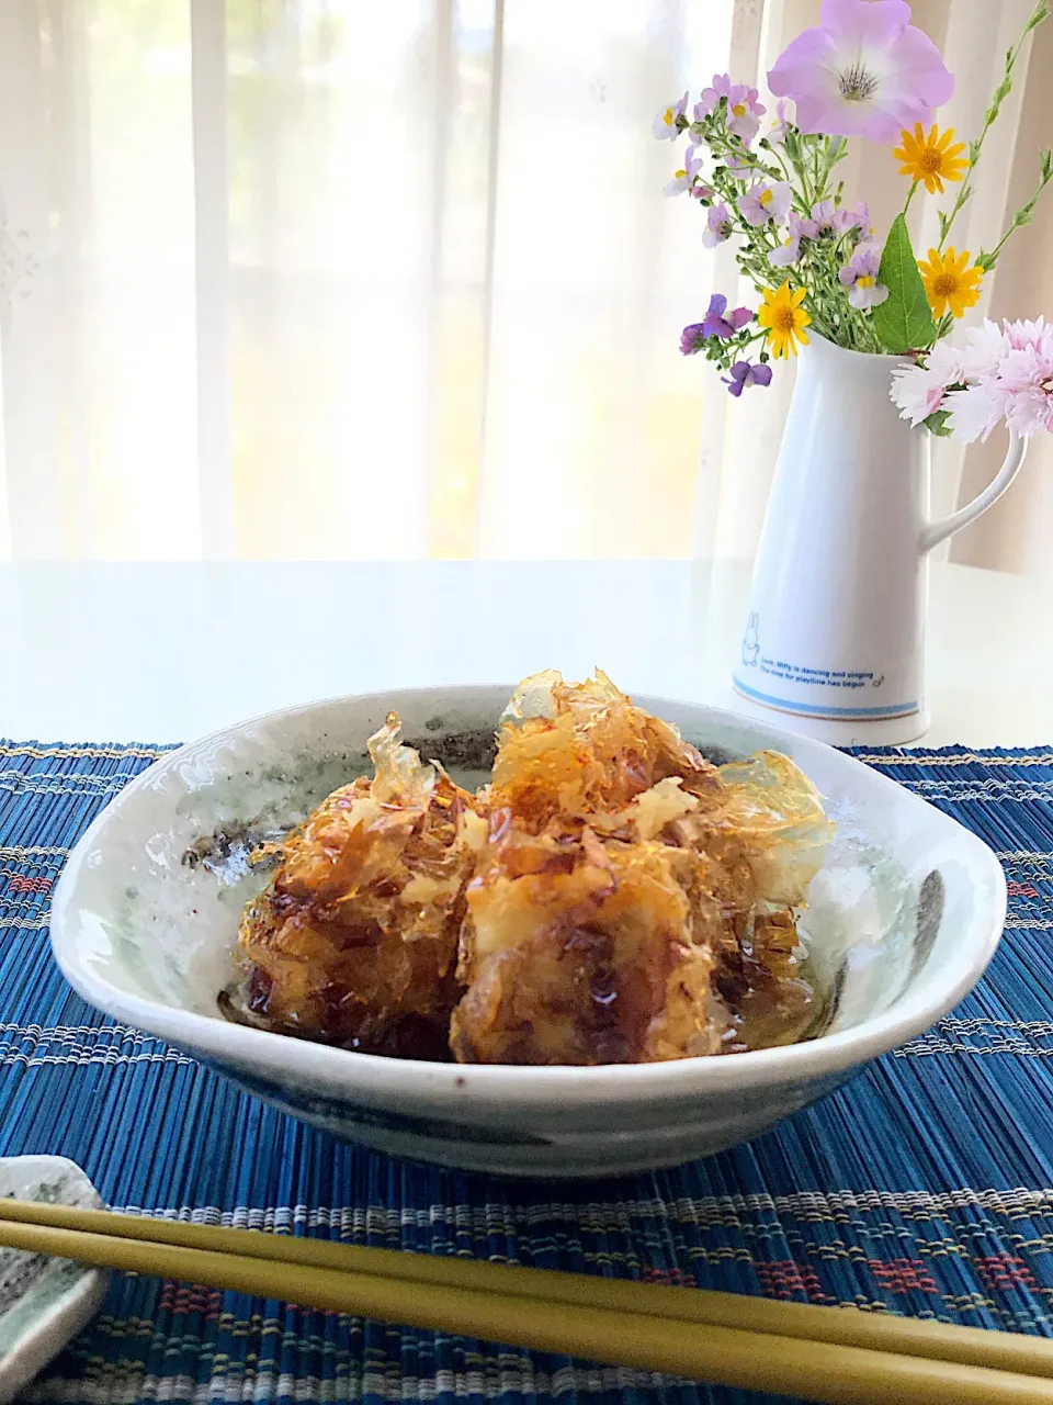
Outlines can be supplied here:
<path id="1" fill-rule="evenodd" d="M 80 1166 L 65 1156 L 0 1156 L 0 1197 L 102 1205 Z M 0 1249 L 0 1402 L 14 1399 L 94 1316 L 108 1281 L 102 1269 Z"/>

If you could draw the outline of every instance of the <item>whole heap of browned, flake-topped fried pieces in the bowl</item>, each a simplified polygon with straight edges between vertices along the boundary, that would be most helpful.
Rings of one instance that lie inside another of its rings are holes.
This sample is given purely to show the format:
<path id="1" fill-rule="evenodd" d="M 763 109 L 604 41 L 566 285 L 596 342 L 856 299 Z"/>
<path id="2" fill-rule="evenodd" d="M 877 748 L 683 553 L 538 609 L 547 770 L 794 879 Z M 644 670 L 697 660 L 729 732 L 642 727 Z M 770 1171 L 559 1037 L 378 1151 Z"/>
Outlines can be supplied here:
<path id="1" fill-rule="evenodd" d="M 710 764 L 597 673 L 524 680 L 491 784 L 399 742 L 281 846 L 246 909 L 246 1003 L 347 1048 L 621 1064 L 790 1043 L 814 992 L 796 909 L 831 826 L 761 752 Z"/>

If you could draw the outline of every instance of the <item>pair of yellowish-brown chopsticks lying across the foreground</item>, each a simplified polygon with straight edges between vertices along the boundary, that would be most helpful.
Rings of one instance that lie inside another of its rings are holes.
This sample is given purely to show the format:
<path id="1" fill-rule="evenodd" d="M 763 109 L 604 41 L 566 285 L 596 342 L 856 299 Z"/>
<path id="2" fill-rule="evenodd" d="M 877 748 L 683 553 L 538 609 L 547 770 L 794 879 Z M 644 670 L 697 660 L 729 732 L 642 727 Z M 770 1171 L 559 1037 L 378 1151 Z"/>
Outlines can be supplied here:
<path id="1" fill-rule="evenodd" d="M 0 1200 L 0 1246 L 830 1405 L 1053 1405 L 1053 1340 Z"/>

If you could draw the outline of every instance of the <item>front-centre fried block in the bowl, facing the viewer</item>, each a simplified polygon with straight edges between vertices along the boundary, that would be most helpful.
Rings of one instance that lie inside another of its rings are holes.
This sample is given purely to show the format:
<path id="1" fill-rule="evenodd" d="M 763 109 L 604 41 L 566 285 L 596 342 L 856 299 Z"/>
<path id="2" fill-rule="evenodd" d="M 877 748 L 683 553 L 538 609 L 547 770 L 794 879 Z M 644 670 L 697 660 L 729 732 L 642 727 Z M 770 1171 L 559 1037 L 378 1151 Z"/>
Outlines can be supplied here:
<path id="1" fill-rule="evenodd" d="M 462 1062 L 713 1054 L 724 1026 L 691 854 L 508 830 L 469 885 L 451 1043 Z"/>

